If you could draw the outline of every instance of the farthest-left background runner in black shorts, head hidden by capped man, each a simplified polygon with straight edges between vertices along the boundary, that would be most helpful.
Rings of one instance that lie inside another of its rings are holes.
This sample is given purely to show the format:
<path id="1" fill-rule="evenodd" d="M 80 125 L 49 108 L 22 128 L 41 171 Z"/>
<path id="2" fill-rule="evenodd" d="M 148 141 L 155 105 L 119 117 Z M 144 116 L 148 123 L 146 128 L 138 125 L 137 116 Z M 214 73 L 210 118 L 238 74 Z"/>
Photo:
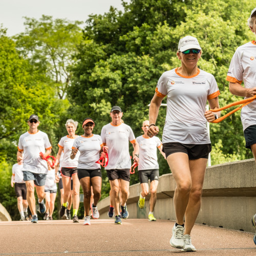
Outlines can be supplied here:
<path id="1" fill-rule="evenodd" d="M 19 161 L 12 166 L 11 186 L 15 188 L 17 197 L 18 211 L 20 214 L 20 221 L 25 221 L 28 218 L 28 201 L 27 201 L 27 187 L 23 180 L 23 161 Z"/>

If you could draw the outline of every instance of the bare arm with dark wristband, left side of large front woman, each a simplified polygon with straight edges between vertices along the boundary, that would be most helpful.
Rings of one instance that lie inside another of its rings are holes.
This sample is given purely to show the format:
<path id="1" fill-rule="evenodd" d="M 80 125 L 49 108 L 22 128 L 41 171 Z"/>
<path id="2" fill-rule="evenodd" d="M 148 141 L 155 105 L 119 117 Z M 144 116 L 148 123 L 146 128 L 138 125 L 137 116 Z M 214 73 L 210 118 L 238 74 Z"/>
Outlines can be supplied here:
<path id="1" fill-rule="evenodd" d="M 150 113 L 149 113 L 150 124 L 156 123 L 162 100 L 163 100 L 163 97 L 158 97 L 157 93 L 155 93 L 155 95 L 153 96 L 150 102 Z M 159 127 L 152 125 L 147 131 L 147 136 L 150 136 L 150 134 L 152 136 L 156 136 L 158 132 L 159 132 Z"/>

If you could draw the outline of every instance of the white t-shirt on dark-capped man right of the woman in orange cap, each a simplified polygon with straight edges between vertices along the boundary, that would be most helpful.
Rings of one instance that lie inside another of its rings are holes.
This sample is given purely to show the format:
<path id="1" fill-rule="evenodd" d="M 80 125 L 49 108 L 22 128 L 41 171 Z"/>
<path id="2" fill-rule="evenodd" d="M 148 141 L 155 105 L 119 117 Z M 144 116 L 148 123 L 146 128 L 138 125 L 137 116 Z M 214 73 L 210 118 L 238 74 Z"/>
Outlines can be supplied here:
<path id="1" fill-rule="evenodd" d="M 100 136 L 103 144 L 109 147 L 109 164 L 105 169 L 130 169 L 129 141 L 136 142 L 131 127 L 125 123 L 119 125 L 108 123 L 102 127 Z"/>

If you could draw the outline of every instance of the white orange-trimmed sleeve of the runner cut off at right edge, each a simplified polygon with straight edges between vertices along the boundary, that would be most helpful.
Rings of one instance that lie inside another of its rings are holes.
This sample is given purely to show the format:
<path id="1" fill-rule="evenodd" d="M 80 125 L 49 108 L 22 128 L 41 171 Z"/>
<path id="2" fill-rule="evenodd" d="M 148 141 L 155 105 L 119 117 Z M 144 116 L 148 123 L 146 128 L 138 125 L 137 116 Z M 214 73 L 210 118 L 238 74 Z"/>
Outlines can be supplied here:
<path id="1" fill-rule="evenodd" d="M 243 81 L 243 66 L 242 66 L 242 56 L 243 53 L 240 53 L 239 48 L 234 53 L 230 66 L 227 72 L 226 80 L 229 82 L 238 82 L 242 83 Z"/>

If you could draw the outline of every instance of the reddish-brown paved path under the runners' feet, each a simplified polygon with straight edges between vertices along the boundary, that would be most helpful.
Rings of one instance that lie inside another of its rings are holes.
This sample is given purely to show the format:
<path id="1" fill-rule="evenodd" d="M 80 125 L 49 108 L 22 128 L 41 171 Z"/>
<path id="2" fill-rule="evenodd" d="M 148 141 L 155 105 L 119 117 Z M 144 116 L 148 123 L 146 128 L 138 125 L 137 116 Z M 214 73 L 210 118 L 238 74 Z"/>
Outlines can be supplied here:
<path id="1" fill-rule="evenodd" d="M 145 219 L 91 220 L 83 226 L 70 220 L 0 222 L 0 255 L 178 255 L 169 245 L 174 222 Z M 253 234 L 195 225 L 193 255 L 256 255 Z"/>

